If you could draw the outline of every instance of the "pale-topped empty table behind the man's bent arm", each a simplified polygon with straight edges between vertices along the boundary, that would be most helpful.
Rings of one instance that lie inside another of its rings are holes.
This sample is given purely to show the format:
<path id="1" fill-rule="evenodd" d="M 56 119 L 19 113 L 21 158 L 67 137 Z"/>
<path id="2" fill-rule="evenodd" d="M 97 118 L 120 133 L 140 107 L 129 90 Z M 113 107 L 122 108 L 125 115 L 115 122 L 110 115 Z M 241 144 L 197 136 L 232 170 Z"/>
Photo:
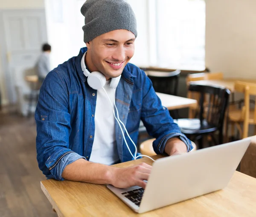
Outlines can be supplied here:
<path id="1" fill-rule="evenodd" d="M 197 106 L 197 100 L 177 97 L 169 94 L 162 94 L 157 92 L 157 96 L 160 98 L 162 105 L 168 110 L 195 108 Z"/>

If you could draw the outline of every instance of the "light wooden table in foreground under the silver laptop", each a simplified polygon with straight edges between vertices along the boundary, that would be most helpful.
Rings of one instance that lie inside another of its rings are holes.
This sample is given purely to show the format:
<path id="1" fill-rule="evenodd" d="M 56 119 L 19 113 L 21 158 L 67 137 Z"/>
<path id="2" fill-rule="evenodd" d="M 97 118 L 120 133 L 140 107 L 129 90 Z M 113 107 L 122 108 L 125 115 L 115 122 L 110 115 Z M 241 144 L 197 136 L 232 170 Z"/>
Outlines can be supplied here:
<path id="1" fill-rule="evenodd" d="M 153 158 L 163 157 L 156 155 Z M 128 167 L 145 162 L 148 158 L 116 164 Z M 190 180 L 193 182 L 193 180 Z M 182 186 L 177 186 L 182 187 Z M 73 181 L 44 180 L 41 188 L 60 217 L 84 216 L 179 216 L 179 217 L 255 217 L 256 179 L 235 172 L 226 188 L 144 214 L 137 214 L 119 200 L 104 185 Z"/>

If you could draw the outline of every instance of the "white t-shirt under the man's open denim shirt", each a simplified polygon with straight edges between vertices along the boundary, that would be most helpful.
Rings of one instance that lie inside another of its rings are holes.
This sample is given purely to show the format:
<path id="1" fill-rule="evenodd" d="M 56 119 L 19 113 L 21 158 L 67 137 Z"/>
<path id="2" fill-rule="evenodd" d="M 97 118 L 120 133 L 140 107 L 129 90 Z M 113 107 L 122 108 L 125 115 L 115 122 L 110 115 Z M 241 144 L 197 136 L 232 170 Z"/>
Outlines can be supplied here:
<path id="1" fill-rule="evenodd" d="M 119 160 L 115 138 L 115 117 L 113 114 L 114 98 L 116 90 L 109 87 L 110 80 L 106 82 L 104 89 L 97 90 L 97 100 L 95 109 L 95 133 L 93 140 L 90 161 L 111 165 Z"/>

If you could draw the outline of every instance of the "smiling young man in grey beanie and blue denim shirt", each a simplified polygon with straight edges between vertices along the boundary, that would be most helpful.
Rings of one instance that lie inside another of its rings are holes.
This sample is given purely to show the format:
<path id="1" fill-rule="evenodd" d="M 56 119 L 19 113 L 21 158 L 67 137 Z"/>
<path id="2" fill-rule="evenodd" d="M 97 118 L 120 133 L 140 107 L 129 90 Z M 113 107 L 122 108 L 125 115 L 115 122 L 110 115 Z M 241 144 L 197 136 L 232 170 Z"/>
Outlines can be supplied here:
<path id="1" fill-rule="evenodd" d="M 87 48 L 51 71 L 41 87 L 35 113 L 39 168 L 57 180 L 145 188 L 151 166 L 108 166 L 134 159 L 114 119 L 114 102 L 135 144 L 140 120 L 156 138 L 157 154 L 190 151 L 191 142 L 161 105 L 144 71 L 128 63 L 137 37 L 131 6 L 123 0 L 87 0 L 81 13 Z"/>

